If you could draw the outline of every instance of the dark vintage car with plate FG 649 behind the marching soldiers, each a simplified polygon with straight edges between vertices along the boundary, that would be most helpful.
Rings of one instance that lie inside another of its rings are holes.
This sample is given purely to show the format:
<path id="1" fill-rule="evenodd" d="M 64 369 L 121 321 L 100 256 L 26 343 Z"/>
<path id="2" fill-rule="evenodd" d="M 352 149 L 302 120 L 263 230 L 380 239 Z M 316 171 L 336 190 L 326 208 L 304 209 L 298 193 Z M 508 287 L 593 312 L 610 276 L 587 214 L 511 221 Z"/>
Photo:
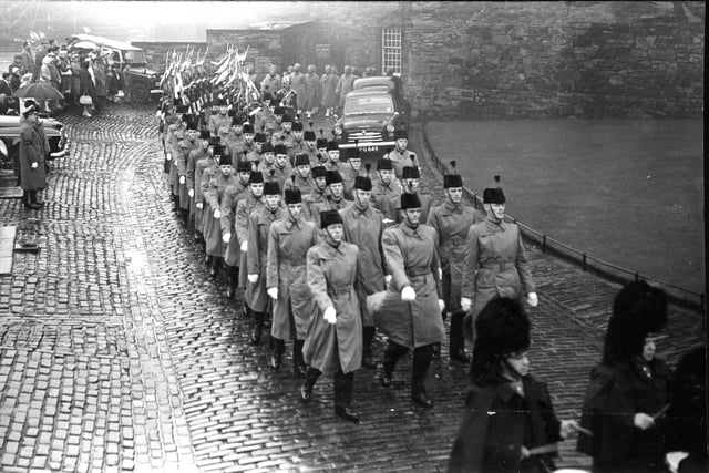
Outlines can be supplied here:
<path id="1" fill-rule="evenodd" d="M 359 147 L 378 156 L 394 147 L 394 131 L 407 130 L 411 105 L 401 82 L 390 76 L 361 78 L 347 94 L 332 134 L 340 148 Z"/>

